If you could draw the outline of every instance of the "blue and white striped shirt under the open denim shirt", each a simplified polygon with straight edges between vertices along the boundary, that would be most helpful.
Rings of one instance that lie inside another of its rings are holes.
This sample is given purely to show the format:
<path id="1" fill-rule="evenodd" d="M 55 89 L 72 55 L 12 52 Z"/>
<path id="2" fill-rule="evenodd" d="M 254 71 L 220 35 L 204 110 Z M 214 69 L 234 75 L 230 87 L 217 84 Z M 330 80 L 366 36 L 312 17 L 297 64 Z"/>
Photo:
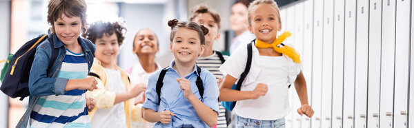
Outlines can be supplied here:
<path id="1" fill-rule="evenodd" d="M 57 77 L 78 79 L 88 75 L 85 55 L 66 50 Z M 30 114 L 30 127 L 90 127 L 86 90 L 72 89 L 63 95 L 41 96 Z"/>

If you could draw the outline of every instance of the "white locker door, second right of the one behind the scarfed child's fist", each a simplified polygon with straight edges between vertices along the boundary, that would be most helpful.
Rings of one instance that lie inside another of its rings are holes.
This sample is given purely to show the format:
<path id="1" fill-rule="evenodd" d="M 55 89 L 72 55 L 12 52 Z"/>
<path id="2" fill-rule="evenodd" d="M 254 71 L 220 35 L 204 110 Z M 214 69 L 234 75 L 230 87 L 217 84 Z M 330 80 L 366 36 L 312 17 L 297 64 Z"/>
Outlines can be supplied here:
<path id="1" fill-rule="evenodd" d="M 322 49 L 322 128 L 331 127 L 333 68 L 333 1 L 324 1 Z"/>

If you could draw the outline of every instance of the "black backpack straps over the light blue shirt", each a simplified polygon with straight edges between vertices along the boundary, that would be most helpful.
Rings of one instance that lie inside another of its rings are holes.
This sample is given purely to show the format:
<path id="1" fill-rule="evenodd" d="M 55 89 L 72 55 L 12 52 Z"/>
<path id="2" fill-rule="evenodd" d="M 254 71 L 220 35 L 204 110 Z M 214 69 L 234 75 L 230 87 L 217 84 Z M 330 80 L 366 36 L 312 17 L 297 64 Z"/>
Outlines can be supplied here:
<path id="1" fill-rule="evenodd" d="M 164 68 L 161 70 L 161 73 L 158 76 L 158 81 L 157 81 L 157 87 L 155 88 L 157 91 L 157 95 L 158 95 L 158 104 L 161 102 L 161 87 L 162 85 L 164 85 L 164 83 L 162 82 L 164 80 L 164 76 L 166 76 L 166 72 L 167 72 L 167 68 Z M 197 81 L 195 81 L 195 84 L 197 85 L 197 88 L 199 89 L 199 93 L 201 96 L 201 101 L 203 100 L 203 94 L 204 94 L 204 86 L 203 86 L 203 80 L 201 80 L 200 78 L 200 74 L 201 74 L 201 68 L 197 66 Z"/>

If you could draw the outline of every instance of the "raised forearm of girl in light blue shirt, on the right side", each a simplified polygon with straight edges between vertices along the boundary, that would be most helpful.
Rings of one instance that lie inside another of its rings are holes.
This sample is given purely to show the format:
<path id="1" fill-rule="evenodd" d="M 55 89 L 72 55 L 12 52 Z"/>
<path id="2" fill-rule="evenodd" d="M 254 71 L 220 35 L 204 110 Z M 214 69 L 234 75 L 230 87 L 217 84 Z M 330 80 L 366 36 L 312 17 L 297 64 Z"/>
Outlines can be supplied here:
<path id="1" fill-rule="evenodd" d="M 204 103 L 201 103 L 201 101 L 194 94 L 188 97 L 188 101 L 190 101 L 191 105 L 193 105 L 197 115 L 201 118 L 201 120 L 206 122 L 208 126 L 213 127 L 217 124 L 218 116 L 216 111 L 213 111 L 213 109 L 207 105 L 204 105 Z"/>

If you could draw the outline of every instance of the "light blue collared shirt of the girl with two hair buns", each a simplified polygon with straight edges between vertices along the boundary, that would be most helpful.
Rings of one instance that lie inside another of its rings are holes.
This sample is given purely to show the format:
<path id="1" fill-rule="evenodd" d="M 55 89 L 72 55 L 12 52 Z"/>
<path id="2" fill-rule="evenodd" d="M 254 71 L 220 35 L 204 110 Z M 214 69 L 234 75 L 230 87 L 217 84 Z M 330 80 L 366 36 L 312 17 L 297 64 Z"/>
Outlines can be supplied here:
<path id="1" fill-rule="evenodd" d="M 172 61 L 170 66 L 167 67 L 168 70 L 163 81 L 164 85 L 161 88 L 161 102 L 158 103 L 156 92 L 158 76 L 161 72 L 161 70 L 158 70 L 148 79 L 148 86 L 145 92 L 146 100 L 142 107 L 154 111 L 170 110 L 175 114 L 175 116 L 171 116 L 171 122 L 169 124 L 161 124 L 161 122 L 157 122 L 154 127 L 208 127 L 206 122 L 199 118 L 190 101 L 184 97 L 183 91 L 180 89 L 179 83 L 177 82 L 177 78 L 181 78 L 181 76 L 179 76 L 178 72 L 172 68 L 172 65 L 175 65 L 175 61 Z M 193 94 L 201 100 L 199 90 L 195 84 L 198 76 L 196 66 L 197 64 L 194 65 L 193 72 L 187 74 L 184 78 L 190 81 Z M 214 111 L 219 111 L 219 104 L 217 102 L 219 98 L 219 89 L 215 76 L 208 72 L 208 70 L 201 68 L 200 78 L 203 80 L 204 85 L 203 100 L 201 100 L 201 102 Z"/>

